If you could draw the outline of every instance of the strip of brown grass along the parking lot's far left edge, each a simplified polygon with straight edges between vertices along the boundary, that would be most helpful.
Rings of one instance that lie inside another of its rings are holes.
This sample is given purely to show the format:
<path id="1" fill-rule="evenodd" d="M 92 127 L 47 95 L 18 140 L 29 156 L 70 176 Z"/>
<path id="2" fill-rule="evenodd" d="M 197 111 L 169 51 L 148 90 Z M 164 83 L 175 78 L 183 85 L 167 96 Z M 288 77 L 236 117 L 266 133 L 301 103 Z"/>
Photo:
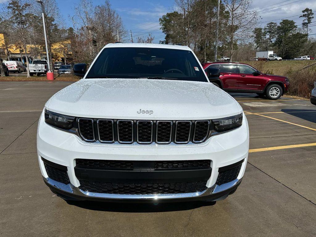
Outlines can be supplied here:
<path id="1" fill-rule="evenodd" d="M 63 81 L 63 82 L 76 82 L 79 81 L 81 78 L 78 76 L 74 75 L 60 75 L 54 74 L 54 81 Z M 0 76 L 0 82 L 46 82 L 47 78 L 46 76 L 31 76 L 31 77 L 26 77 L 26 76 Z"/>

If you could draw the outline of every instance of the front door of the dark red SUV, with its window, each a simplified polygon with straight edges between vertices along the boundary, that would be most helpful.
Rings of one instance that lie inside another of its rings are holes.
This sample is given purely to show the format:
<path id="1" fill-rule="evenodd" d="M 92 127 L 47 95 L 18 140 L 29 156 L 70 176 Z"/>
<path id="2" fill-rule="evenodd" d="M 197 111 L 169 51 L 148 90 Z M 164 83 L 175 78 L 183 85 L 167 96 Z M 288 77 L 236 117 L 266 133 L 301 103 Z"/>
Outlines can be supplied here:
<path id="1" fill-rule="evenodd" d="M 239 80 L 238 90 L 261 91 L 264 88 L 264 78 L 262 73 L 256 74 L 256 69 L 245 65 L 238 64 Z"/>

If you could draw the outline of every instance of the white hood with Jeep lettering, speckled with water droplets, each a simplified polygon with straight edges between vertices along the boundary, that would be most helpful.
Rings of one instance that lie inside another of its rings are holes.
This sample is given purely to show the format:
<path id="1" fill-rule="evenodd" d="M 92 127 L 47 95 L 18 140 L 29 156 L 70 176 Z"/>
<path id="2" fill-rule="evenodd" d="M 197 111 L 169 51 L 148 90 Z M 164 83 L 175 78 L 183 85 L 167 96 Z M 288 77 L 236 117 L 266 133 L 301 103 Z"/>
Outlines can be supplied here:
<path id="1" fill-rule="evenodd" d="M 82 79 L 56 93 L 46 109 L 100 119 L 193 120 L 238 114 L 237 104 L 209 82 Z"/>

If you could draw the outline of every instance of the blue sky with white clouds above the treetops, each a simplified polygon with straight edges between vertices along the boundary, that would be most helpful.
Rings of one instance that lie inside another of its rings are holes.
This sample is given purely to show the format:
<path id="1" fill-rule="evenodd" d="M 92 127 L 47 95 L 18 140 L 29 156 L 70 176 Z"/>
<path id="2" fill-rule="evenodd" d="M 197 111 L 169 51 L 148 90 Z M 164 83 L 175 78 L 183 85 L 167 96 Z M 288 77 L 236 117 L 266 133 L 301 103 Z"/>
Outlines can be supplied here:
<path id="1" fill-rule="evenodd" d="M 0 0 L 5 1 L 5 0 Z M 35 1 L 35 0 L 34 0 Z M 61 11 L 66 26 L 71 26 L 69 15 L 74 15 L 74 6 L 79 0 L 56 0 Z M 92 0 L 94 5 L 102 4 L 102 0 Z M 155 43 L 164 40 L 164 34 L 159 29 L 159 18 L 167 12 L 173 11 L 173 0 L 110 0 L 112 7 L 122 17 L 125 29 L 132 31 L 134 40 L 137 37 L 146 37 L 148 32 L 155 36 Z M 282 6 L 283 5 L 283 6 Z M 315 11 L 315 26 L 310 27 L 311 33 L 316 33 L 316 0 L 253 0 L 253 9 L 258 9 L 259 26 L 264 27 L 269 21 L 289 17 L 287 19 L 294 20 L 298 27 L 301 27 L 302 18 L 299 18 L 301 11 L 310 8 Z M 293 17 L 290 17 L 293 16 Z M 274 22 L 279 23 L 281 20 Z M 315 37 L 316 35 L 313 35 Z M 130 34 L 125 38 L 130 39 Z"/>

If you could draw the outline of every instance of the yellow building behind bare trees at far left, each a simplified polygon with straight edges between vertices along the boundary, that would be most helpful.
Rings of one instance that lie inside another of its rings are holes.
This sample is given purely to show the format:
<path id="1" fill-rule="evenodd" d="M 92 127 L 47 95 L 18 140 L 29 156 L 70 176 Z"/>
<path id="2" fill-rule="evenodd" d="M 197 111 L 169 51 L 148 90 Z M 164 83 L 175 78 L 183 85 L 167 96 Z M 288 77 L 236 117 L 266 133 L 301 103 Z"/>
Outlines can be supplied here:
<path id="1" fill-rule="evenodd" d="M 1 58 L 5 60 L 21 60 L 25 62 L 23 46 L 8 44 L 5 39 L 4 33 L 0 33 L 0 54 Z M 70 39 L 65 38 L 57 43 L 52 43 L 52 61 L 62 61 L 66 59 L 66 62 L 72 61 L 72 52 L 70 47 Z M 26 45 L 27 55 L 30 58 L 30 62 L 33 59 L 46 59 L 45 47 L 40 45 Z"/>

